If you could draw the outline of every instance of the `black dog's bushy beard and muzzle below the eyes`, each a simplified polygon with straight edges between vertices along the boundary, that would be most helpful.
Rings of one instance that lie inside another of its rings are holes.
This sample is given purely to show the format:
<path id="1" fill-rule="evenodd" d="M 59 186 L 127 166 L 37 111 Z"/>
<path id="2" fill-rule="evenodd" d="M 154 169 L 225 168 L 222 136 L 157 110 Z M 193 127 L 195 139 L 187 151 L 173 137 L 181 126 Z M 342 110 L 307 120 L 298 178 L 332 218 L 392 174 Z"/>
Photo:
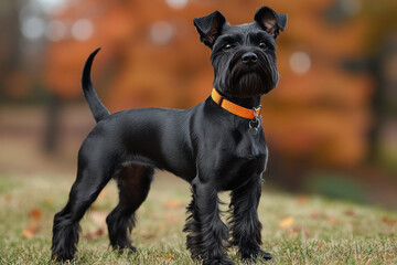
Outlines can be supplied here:
<path id="1" fill-rule="evenodd" d="M 237 97 L 255 97 L 270 92 L 278 83 L 278 72 L 265 54 L 258 55 L 258 62 L 247 65 L 240 56 L 232 60 L 226 80 L 227 93 Z"/>

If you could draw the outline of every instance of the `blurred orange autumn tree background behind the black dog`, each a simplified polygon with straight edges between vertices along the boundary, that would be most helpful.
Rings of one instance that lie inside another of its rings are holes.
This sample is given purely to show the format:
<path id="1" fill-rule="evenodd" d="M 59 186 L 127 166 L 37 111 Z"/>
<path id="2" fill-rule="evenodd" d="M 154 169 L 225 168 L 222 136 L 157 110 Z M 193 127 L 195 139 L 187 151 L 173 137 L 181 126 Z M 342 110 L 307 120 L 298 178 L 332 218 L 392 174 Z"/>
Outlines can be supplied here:
<path id="1" fill-rule="evenodd" d="M 0 178 L 74 176 L 95 126 L 79 87 L 88 54 L 111 112 L 187 108 L 211 93 L 195 17 L 232 24 L 270 6 L 279 86 L 262 99 L 269 189 L 397 209 L 397 1 L 0 1 Z"/>

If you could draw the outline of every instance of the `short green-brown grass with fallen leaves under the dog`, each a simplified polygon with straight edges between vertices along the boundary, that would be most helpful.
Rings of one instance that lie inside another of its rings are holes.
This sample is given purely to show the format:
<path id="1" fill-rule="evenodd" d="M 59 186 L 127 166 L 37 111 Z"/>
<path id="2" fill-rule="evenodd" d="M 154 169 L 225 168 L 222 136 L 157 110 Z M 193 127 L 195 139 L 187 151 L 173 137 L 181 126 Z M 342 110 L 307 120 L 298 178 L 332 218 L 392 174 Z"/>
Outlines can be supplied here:
<path id="1" fill-rule="evenodd" d="M 51 264 L 51 230 L 73 177 L 0 176 L 0 264 Z M 222 195 L 227 201 L 227 194 Z M 116 205 L 110 183 L 82 221 L 74 264 L 194 264 L 182 227 L 189 186 L 159 172 L 132 231 L 138 254 L 109 248 L 105 218 Z M 376 206 L 293 197 L 266 188 L 259 205 L 268 264 L 397 264 L 397 212 Z M 236 250 L 229 256 L 238 264 Z"/>

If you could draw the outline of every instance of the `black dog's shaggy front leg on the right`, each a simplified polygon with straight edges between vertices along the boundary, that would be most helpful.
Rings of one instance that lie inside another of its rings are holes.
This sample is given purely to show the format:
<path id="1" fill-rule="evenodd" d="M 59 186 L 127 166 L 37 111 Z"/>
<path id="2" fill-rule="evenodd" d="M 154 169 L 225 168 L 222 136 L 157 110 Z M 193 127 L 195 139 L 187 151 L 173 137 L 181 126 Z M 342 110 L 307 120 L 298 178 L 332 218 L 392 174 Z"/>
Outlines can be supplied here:
<path id="1" fill-rule="evenodd" d="M 233 210 L 232 244 L 238 247 L 243 258 L 262 257 L 271 259 L 269 253 L 260 250 L 261 223 L 257 212 L 260 193 L 261 178 L 260 176 L 253 176 L 249 182 L 233 190 L 230 194 L 230 209 Z"/>

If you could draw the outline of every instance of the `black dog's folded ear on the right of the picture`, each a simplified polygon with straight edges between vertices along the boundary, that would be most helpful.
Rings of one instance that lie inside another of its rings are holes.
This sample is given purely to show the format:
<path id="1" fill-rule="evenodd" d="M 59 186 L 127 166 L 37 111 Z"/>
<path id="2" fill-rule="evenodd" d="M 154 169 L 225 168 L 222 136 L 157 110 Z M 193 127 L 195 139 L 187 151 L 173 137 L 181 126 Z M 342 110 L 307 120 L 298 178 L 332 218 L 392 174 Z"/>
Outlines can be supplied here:
<path id="1" fill-rule="evenodd" d="M 286 29 L 287 25 L 287 14 L 278 13 L 268 7 L 258 9 L 255 13 L 254 20 L 275 39 L 280 34 L 280 31 Z"/>

